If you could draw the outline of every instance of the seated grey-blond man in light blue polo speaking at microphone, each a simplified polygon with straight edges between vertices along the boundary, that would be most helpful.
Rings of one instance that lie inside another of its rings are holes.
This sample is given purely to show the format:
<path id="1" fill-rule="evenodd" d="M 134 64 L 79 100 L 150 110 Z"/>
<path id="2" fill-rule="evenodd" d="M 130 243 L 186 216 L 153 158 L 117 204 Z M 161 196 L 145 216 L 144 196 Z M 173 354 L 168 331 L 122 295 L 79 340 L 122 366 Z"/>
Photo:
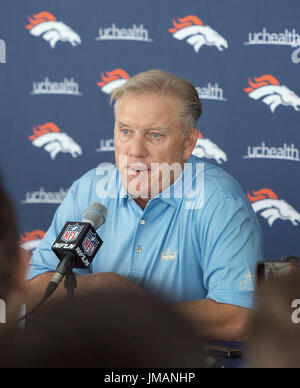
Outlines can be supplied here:
<path id="1" fill-rule="evenodd" d="M 177 303 L 207 337 L 241 339 L 262 234 L 233 178 L 191 156 L 202 112 L 195 88 L 149 71 L 129 79 L 112 101 L 116 167 L 99 167 L 73 184 L 32 258 L 30 304 L 57 266 L 50 246 L 65 222 L 101 202 L 108 210 L 99 230 L 104 244 L 90 271 L 77 271 L 79 294 L 148 290 Z"/>

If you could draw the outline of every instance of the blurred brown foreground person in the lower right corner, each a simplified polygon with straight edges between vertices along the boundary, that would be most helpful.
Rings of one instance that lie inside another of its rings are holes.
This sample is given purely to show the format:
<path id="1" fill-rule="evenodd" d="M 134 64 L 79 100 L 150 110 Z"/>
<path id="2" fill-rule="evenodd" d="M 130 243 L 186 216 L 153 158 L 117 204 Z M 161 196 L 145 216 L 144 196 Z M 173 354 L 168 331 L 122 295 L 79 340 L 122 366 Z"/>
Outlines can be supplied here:
<path id="1" fill-rule="evenodd" d="M 300 270 L 263 282 L 247 329 L 254 368 L 300 368 Z"/>

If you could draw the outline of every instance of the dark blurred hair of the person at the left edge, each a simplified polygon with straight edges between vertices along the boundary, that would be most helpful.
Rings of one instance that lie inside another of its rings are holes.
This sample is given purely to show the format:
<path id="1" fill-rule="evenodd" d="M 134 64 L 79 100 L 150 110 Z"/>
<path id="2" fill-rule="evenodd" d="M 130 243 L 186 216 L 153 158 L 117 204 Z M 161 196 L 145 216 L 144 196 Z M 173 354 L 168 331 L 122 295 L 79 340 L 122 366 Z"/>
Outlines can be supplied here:
<path id="1" fill-rule="evenodd" d="M 12 202 L 0 182 L 0 299 L 12 286 L 18 258 L 18 229 Z"/>

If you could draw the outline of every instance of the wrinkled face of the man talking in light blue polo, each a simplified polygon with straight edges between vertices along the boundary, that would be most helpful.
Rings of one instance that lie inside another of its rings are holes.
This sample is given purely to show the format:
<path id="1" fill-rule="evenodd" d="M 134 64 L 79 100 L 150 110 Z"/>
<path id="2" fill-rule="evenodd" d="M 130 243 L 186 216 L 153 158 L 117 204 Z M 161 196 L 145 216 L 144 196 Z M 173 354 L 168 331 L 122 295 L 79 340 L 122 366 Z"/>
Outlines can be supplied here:
<path id="1" fill-rule="evenodd" d="M 195 146 L 197 130 L 183 139 L 181 111 L 178 98 L 157 93 L 128 94 L 116 106 L 116 164 L 141 205 L 174 182 Z"/>

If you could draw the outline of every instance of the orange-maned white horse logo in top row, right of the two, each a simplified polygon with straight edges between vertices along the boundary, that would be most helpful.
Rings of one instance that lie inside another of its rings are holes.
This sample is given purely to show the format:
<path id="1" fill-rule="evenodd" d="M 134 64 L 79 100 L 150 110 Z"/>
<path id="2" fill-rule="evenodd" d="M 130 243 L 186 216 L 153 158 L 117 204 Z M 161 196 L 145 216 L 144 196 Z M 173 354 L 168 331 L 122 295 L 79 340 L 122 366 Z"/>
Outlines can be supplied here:
<path id="1" fill-rule="evenodd" d="M 228 49 L 228 42 L 217 31 L 205 26 L 201 19 L 195 15 L 179 18 L 178 22 L 173 19 L 174 28 L 169 32 L 178 40 L 186 39 L 187 43 L 194 47 L 198 53 L 202 46 L 215 46 L 219 51 Z"/>

